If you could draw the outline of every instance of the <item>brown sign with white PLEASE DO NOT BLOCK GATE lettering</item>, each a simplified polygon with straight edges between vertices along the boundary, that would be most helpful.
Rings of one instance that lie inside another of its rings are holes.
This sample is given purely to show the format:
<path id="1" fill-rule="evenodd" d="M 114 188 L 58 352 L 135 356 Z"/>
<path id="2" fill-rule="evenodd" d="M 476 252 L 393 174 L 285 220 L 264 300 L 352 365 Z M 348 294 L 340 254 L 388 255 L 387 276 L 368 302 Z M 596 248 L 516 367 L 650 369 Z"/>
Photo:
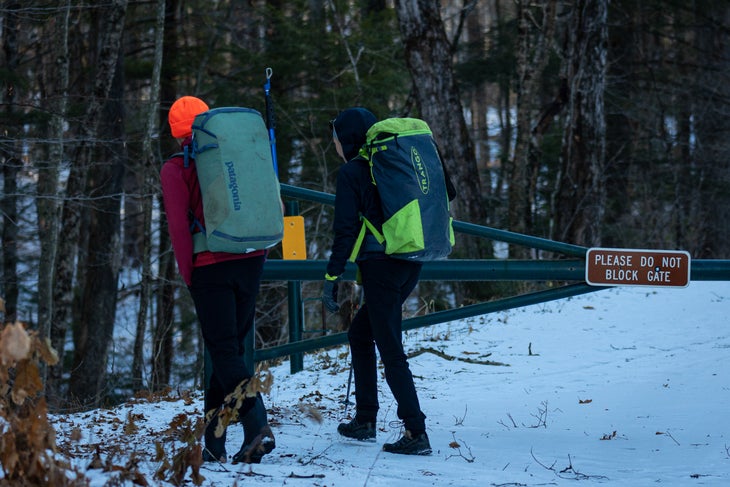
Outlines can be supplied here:
<path id="1" fill-rule="evenodd" d="M 690 256 L 683 250 L 591 248 L 586 282 L 592 286 L 689 285 Z"/>

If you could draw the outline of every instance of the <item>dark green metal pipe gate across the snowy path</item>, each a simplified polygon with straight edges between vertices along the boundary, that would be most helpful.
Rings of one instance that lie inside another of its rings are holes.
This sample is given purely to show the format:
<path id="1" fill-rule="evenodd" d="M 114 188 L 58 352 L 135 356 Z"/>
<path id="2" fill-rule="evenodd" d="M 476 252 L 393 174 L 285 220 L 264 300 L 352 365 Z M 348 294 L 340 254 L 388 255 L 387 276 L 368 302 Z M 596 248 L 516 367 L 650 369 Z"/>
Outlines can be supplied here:
<path id="1" fill-rule="evenodd" d="M 281 194 L 294 199 L 333 205 L 335 197 L 329 193 L 313 191 L 286 184 L 281 185 Z M 573 284 L 512 296 L 461 308 L 438 311 L 403 320 L 403 329 L 410 330 L 436 323 L 479 316 L 521 306 L 529 306 L 556 299 L 586 294 L 601 289 L 585 283 L 586 247 L 555 242 L 539 237 L 522 235 L 505 230 L 484 227 L 460 221 L 454 222 L 454 231 L 477 237 L 484 237 L 505 243 L 522 245 L 548 252 L 559 253 L 578 259 L 558 260 L 510 260 L 510 259 L 447 259 L 426 262 L 421 271 L 424 281 L 576 281 Z M 302 340 L 303 302 L 301 281 L 320 281 L 327 266 L 326 260 L 268 260 L 264 266 L 264 280 L 289 282 L 289 329 L 290 343 L 271 348 L 254 350 L 254 361 L 268 360 L 286 355 L 291 356 L 291 370 L 302 368 L 302 354 L 312 350 L 347 343 L 347 333 L 335 333 Z M 355 279 L 356 266 L 348 264 L 344 278 Z M 693 260 L 690 279 L 695 281 L 730 280 L 730 260 Z"/>

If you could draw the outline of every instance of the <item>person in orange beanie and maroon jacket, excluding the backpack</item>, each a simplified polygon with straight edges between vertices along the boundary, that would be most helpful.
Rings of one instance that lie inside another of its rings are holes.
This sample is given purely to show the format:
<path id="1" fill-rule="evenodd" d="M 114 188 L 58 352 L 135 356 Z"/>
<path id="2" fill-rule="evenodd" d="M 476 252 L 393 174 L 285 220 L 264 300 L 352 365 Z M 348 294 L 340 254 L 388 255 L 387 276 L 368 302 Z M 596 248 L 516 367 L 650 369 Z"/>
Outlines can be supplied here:
<path id="1" fill-rule="evenodd" d="M 168 122 L 172 136 L 183 153 L 162 166 L 160 179 L 170 240 L 180 275 L 190 291 L 198 315 L 205 347 L 210 354 L 212 374 L 205 388 L 205 411 L 217 411 L 224 398 L 253 371 L 244 360 L 244 339 L 253 328 L 266 259 L 265 250 L 245 254 L 193 250 L 191 224 L 205 227 L 203 203 L 192 157 L 192 125 L 208 105 L 193 96 L 183 96 L 170 107 Z M 200 231 L 200 230 L 194 230 Z M 243 444 L 233 463 L 259 463 L 275 447 L 261 394 L 246 398 L 238 410 L 243 423 Z M 216 436 L 218 415 L 214 414 L 205 430 L 203 460 L 223 462 L 227 458 L 226 432 Z"/>

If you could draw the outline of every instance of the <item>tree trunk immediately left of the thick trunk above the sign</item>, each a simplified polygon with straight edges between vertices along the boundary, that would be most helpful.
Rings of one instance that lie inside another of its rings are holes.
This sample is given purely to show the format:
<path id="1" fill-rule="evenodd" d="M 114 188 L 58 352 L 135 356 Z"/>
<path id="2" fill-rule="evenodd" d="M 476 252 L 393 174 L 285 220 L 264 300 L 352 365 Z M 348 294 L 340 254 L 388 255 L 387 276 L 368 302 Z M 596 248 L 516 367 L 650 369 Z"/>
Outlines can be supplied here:
<path id="1" fill-rule="evenodd" d="M 531 187 L 537 165 L 539 137 L 533 132 L 538 121 L 541 75 L 545 70 L 556 24 L 557 2 L 538 0 L 517 2 L 517 140 L 514 158 L 507 170 L 509 179 L 509 229 L 517 233 L 532 232 L 534 191 Z M 534 29 L 534 25 L 538 25 Z M 528 258 L 530 250 L 510 245 L 512 258 Z"/>

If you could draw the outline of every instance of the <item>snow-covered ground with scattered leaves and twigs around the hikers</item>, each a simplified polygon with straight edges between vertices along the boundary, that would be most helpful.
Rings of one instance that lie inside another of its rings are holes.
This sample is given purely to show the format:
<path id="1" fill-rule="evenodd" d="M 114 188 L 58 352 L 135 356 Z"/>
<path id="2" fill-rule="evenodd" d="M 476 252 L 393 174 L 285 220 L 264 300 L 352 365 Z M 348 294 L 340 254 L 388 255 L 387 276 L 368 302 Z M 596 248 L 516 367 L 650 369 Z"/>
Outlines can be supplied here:
<path id="1" fill-rule="evenodd" d="M 410 366 L 428 416 L 427 457 L 381 450 L 400 435 L 382 377 L 377 441 L 338 436 L 346 346 L 306 355 L 294 375 L 284 362 L 270 369 L 265 396 L 277 448 L 259 465 L 204 464 L 203 485 L 730 485 L 728 315 L 730 282 L 693 282 L 612 288 L 410 331 L 407 351 L 423 351 Z M 203 405 L 185 392 L 53 417 L 57 443 L 92 486 L 130 468 L 138 483 L 170 485 L 155 478 L 180 446 L 170 423 L 198 417 Z M 231 426 L 228 453 L 242 440 Z M 106 471 L 86 470 L 96 445 Z"/>

